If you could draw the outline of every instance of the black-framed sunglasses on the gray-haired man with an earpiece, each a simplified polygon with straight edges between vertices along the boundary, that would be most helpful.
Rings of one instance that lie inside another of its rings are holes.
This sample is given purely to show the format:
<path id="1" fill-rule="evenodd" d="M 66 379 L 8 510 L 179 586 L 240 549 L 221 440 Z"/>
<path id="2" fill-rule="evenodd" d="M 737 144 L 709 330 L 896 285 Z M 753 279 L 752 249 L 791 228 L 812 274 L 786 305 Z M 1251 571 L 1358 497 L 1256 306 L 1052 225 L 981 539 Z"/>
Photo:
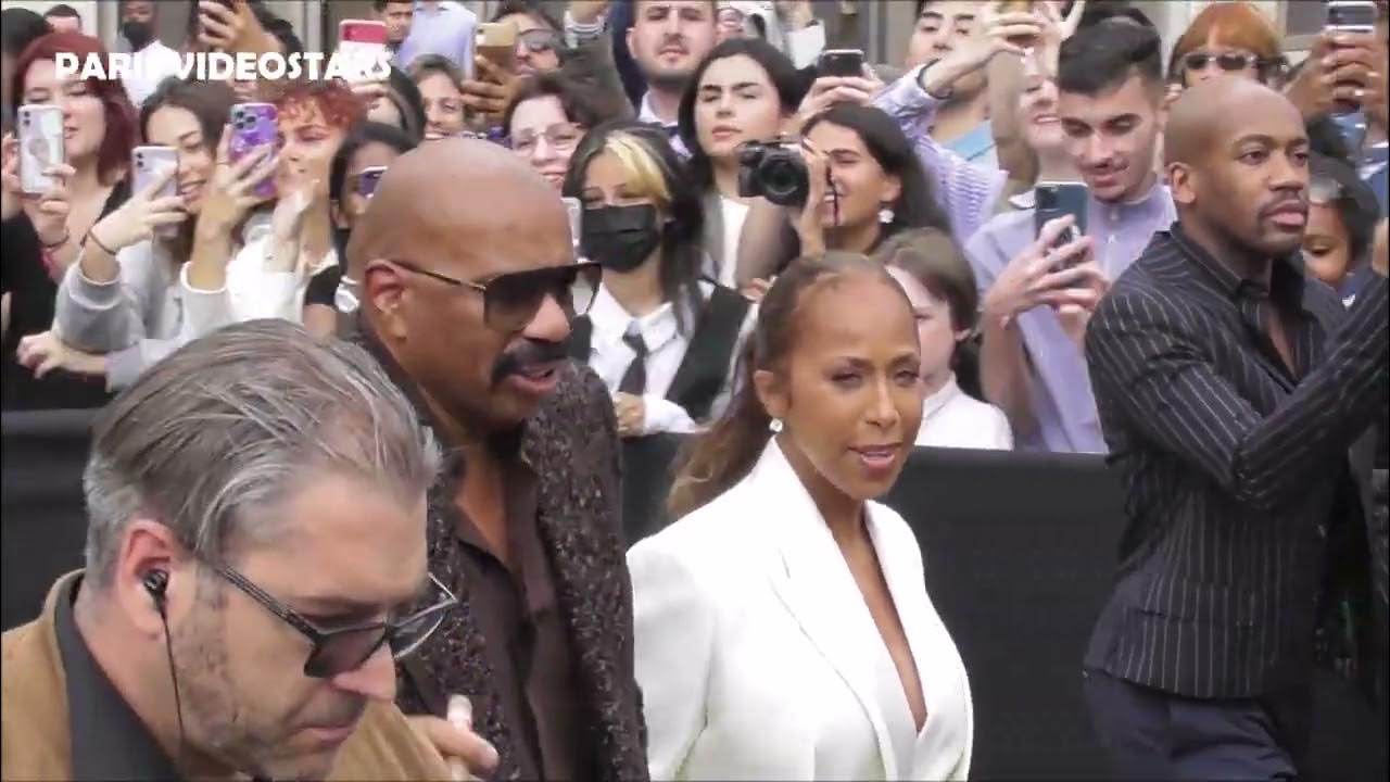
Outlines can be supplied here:
<path id="1" fill-rule="evenodd" d="M 441 600 L 423 611 L 402 619 L 388 622 L 367 622 L 348 628 L 324 630 L 295 609 L 271 597 L 250 579 L 224 565 L 208 565 L 217 575 L 260 603 L 282 622 L 299 630 L 313 648 L 304 661 L 304 675 L 314 679 L 332 679 L 339 673 L 361 668 L 382 646 L 391 647 L 392 660 L 400 660 L 417 648 L 439 629 L 443 618 L 459 605 L 459 598 L 439 579 L 430 576 L 430 583 L 442 596 Z"/>

